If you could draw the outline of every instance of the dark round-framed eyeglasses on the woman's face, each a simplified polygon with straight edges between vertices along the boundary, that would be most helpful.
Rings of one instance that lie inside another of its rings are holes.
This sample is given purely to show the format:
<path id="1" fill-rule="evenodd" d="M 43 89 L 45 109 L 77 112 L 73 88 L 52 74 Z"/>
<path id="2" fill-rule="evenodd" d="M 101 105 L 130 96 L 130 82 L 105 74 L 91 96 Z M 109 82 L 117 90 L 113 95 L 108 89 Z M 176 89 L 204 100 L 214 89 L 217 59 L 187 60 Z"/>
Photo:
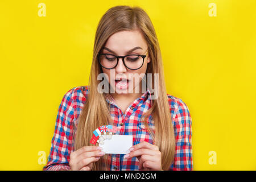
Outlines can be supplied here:
<path id="1" fill-rule="evenodd" d="M 122 58 L 123 64 L 126 68 L 136 70 L 142 67 L 146 55 L 126 55 L 116 56 L 110 53 L 98 53 L 98 61 L 103 68 L 113 69 L 117 66 L 119 58 Z"/>

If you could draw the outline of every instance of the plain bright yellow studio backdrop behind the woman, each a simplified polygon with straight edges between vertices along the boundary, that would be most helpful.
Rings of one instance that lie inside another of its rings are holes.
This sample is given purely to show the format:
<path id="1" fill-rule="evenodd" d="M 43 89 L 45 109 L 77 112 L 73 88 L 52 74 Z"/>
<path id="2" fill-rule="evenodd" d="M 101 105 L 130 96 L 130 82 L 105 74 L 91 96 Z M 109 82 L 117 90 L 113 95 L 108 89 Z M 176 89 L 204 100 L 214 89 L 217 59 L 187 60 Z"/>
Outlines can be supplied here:
<path id="1" fill-rule="evenodd" d="M 97 24 L 142 7 L 167 92 L 188 105 L 194 170 L 256 169 L 256 1 L 1 1 L 1 170 L 42 170 L 64 94 L 88 85 Z"/>

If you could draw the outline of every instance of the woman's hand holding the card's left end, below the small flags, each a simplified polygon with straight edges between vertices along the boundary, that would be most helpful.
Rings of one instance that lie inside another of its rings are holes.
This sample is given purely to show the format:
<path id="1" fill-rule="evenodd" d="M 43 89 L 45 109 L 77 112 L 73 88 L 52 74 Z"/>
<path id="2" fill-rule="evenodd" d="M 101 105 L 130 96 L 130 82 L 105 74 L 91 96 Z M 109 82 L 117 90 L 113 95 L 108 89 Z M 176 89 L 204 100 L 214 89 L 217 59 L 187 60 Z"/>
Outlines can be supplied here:
<path id="1" fill-rule="evenodd" d="M 93 167 L 93 162 L 98 161 L 105 153 L 98 146 L 85 146 L 71 152 L 69 166 L 72 171 L 89 171 Z"/>

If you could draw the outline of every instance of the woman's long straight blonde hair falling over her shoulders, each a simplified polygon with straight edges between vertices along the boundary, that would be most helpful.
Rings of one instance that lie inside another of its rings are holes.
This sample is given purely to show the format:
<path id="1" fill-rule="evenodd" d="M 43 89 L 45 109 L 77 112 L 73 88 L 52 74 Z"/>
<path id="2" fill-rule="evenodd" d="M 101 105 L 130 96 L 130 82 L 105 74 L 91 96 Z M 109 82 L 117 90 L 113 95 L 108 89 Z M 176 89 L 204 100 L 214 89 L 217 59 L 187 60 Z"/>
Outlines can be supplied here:
<path id="1" fill-rule="evenodd" d="M 92 146 L 90 138 L 93 131 L 99 126 L 108 125 L 112 121 L 109 113 L 109 106 L 106 102 L 106 94 L 99 93 L 97 86 L 100 80 L 97 76 L 102 73 L 102 68 L 97 61 L 97 54 L 104 47 L 108 38 L 115 32 L 123 30 L 140 30 L 143 38 L 148 45 L 148 56 L 150 63 L 147 65 L 146 73 L 152 73 L 152 85 L 154 83 L 154 73 L 159 75 L 159 96 L 152 100 L 150 109 L 144 113 L 142 122 L 145 123 L 146 129 L 151 134 L 154 144 L 162 152 L 162 169 L 168 170 L 174 160 L 175 137 L 172 126 L 170 106 L 168 105 L 166 85 L 163 75 L 163 63 L 160 53 L 160 47 L 154 26 L 141 7 L 115 6 L 110 8 L 102 16 L 96 31 L 93 49 L 93 61 L 89 77 L 89 96 L 78 118 L 77 131 L 75 136 L 75 150 L 83 146 Z M 152 116 L 155 129 L 151 131 L 147 125 L 147 119 Z M 108 170 L 108 157 L 93 163 L 92 170 Z"/>

